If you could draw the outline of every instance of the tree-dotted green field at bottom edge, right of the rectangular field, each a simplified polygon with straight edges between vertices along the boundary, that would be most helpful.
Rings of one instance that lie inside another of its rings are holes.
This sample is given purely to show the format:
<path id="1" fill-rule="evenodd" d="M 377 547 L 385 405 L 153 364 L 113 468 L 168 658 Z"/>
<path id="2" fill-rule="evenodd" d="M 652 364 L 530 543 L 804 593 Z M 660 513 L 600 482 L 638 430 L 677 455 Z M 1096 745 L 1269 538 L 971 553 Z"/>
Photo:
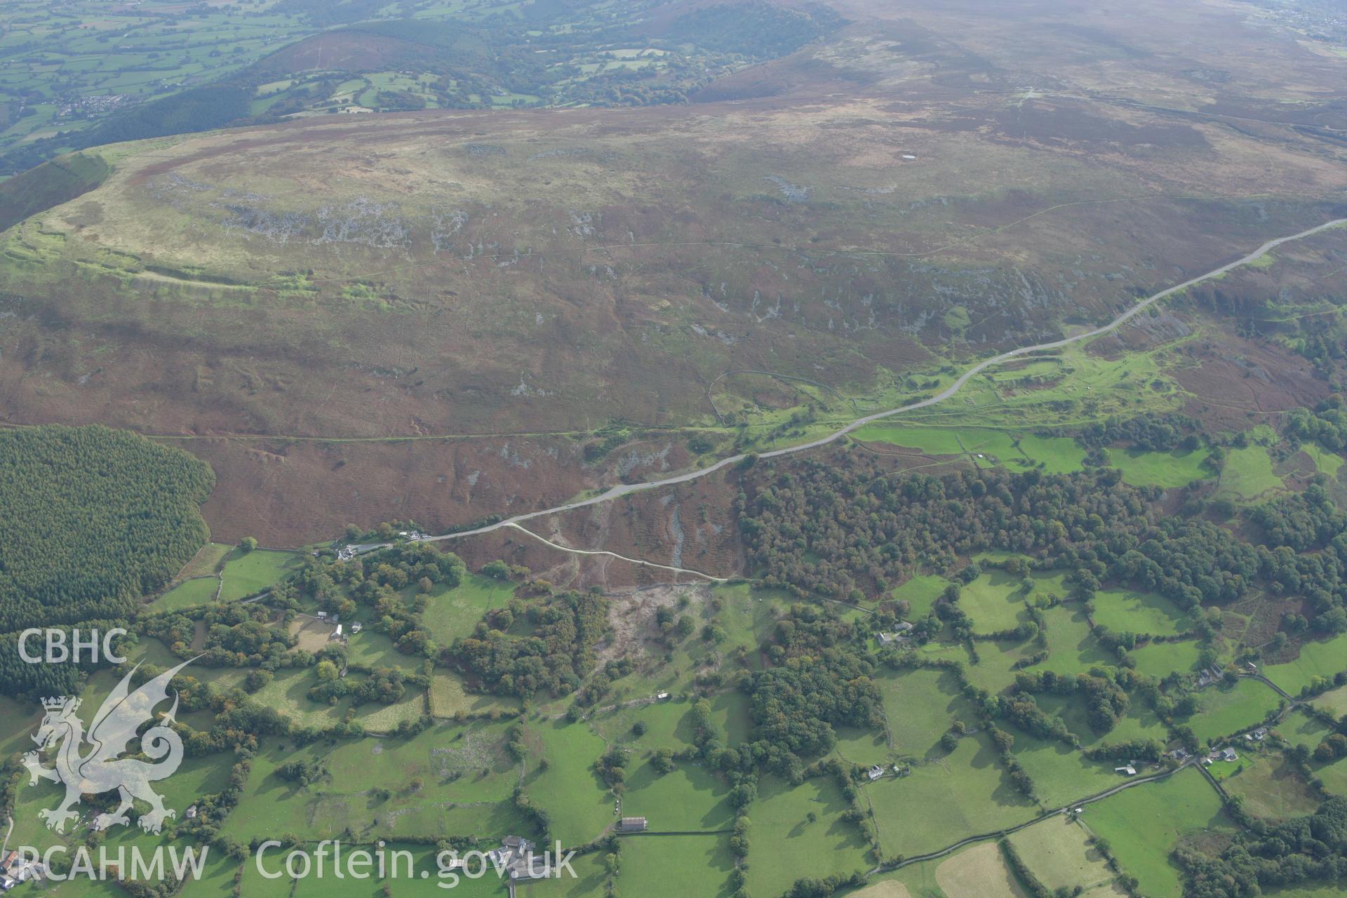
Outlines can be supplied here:
<path id="1" fill-rule="evenodd" d="M 850 875 L 869 868 L 869 844 L 855 824 L 842 820 L 846 809 L 831 777 L 806 780 L 799 786 L 762 777 L 757 801 L 749 808 L 749 893 L 780 895 L 803 876 Z M 814 823 L 808 821 L 810 812 L 818 816 Z"/>

